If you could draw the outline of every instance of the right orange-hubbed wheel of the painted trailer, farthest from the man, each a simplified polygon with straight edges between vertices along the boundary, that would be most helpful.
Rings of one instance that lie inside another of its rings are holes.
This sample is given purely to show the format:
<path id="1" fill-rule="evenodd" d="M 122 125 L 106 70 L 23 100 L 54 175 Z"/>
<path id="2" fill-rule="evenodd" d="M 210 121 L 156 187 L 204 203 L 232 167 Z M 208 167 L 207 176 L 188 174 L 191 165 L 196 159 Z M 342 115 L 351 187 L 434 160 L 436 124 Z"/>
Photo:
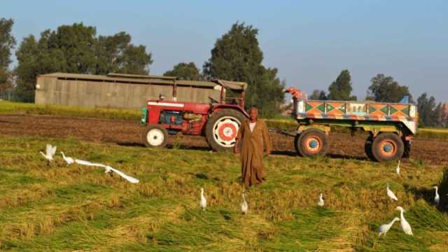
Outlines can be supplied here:
<path id="1" fill-rule="evenodd" d="M 400 137 L 391 132 L 378 134 L 372 142 L 372 155 L 378 162 L 399 160 L 404 149 L 405 146 Z"/>

